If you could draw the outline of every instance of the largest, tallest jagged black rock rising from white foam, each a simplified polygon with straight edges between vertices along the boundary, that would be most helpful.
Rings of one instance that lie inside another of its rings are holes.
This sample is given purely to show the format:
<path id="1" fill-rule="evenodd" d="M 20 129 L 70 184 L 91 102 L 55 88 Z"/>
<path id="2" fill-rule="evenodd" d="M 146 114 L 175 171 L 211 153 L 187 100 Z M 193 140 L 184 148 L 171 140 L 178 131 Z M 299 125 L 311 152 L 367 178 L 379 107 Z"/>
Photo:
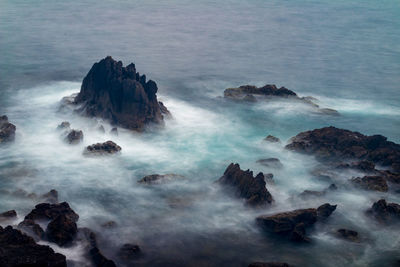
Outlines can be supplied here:
<path id="1" fill-rule="evenodd" d="M 75 103 L 87 116 L 140 131 L 148 123 L 163 123 L 162 113 L 168 111 L 157 101 L 157 90 L 157 84 L 146 81 L 133 63 L 123 67 L 108 56 L 92 66 Z"/>

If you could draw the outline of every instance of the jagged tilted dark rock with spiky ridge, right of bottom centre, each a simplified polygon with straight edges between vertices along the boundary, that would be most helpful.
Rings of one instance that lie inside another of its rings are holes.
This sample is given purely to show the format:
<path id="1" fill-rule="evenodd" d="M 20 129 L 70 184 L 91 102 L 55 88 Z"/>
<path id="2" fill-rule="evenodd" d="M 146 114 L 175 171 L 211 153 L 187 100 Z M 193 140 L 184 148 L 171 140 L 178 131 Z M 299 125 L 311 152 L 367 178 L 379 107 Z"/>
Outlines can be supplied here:
<path id="1" fill-rule="evenodd" d="M 231 163 L 218 182 L 235 188 L 236 194 L 246 199 L 247 204 L 256 206 L 272 203 L 273 199 L 265 187 L 264 174 L 260 172 L 256 177 L 250 170 L 243 171 L 239 164 Z"/>

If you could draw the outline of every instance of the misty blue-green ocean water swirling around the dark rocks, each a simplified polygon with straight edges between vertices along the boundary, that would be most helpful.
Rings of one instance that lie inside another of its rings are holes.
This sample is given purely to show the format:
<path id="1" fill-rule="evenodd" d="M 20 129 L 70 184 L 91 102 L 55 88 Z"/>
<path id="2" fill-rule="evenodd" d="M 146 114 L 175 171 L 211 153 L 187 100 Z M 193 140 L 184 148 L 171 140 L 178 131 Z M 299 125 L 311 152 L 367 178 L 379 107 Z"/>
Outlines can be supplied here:
<path id="1" fill-rule="evenodd" d="M 60 99 L 78 92 L 91 65 L 107 55 L 134 62 L 157 82 L 173 114 L 165 129 L 120 129 L 115 137 L 107 122 L 59 111 Z M 341 116 L 286 101 L 222 98 L 225 88 L 267 83 L 316 97 Z M 341 173 L 343 187 L 323 200 L 338 208 L 310 231 L 310 245 L 265 236 L 254 218 L 323 204 L 293 199 L 329 186 L 312 178 L 313 157 L 284 149 L 297 133 L 333 125 L 399 143 L 399 84 L 398 1 L 0 0 L 0 114 L 17 126 L 15 143 L 1 148 L 0 189 L 57 189 L 80 215 L 79 226 L 99 233 L 106 256 L 117 260 L 119 246 L 139 244 L 145 253 L 139 266 L 390 266 L 400 257 L 398 229 L 376 225 L 363 211 L 381 197 L 399 203 L 400 196 L 347 188 L 357 173 Z M 55 128 L 64 120 L 83 130 L 82 144 L 63 142 Z M 268 134 L 282 143 L 263 142 Z M 85 146 L 109 139 L 121 155 L 82 155 Z M 256 163 L 268 157 L 284 168 Z M 231 162 L 274 174 L 273 206 L 250 209 L 214 183 Z M 185 178 L 137 183 L 153 173 Z M 12 194 L 0 199 L 0 211 L 16 209 L 18 220 L 35 205 Z M 110 220 L 115 229 L 100 226 Z M 365 241 L 332 236 L 344 227 Z M 51 245 L 85 262 L 81 247 Z"/>

